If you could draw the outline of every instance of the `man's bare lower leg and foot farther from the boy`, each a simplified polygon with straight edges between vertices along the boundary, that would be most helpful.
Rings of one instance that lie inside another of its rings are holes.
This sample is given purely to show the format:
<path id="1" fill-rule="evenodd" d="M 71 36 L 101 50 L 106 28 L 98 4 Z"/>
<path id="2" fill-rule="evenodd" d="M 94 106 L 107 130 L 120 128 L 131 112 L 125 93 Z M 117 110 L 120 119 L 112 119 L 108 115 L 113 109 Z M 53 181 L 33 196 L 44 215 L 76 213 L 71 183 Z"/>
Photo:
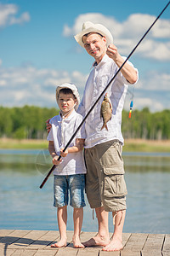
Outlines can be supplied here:
<path id="1" fill-rule="evenodd" d="M 122 229 L 125 220 L 126 210 L 119 212 L 112 212 L 113 218 L 115 217 L 115 229 L 110 243 L 105 246 L 103 251 L 119 251 L 122 249 Z M 115 216 L 116 215 L 116 216 Z"/>

